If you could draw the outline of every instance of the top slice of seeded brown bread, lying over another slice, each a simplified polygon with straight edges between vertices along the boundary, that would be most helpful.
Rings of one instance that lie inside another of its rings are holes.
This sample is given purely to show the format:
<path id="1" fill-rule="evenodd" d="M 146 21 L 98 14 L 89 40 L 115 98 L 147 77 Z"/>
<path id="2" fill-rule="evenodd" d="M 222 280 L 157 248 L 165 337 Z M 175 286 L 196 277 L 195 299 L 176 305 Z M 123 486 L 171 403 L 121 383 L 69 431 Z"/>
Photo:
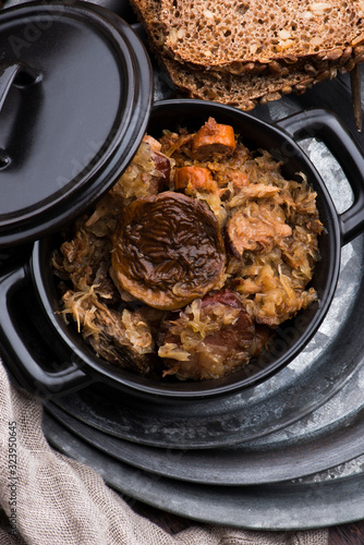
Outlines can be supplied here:
<path id="1" fill-rule="evenodd" d="M 321 70 L 325 61 L 337 65 L 343 58 L 344 64 L 360 55 L 364 2 L 160 0 L 160 23 L 163 50 L 174 60 L 234 74 L 286 75 L 306 62 Z"/>

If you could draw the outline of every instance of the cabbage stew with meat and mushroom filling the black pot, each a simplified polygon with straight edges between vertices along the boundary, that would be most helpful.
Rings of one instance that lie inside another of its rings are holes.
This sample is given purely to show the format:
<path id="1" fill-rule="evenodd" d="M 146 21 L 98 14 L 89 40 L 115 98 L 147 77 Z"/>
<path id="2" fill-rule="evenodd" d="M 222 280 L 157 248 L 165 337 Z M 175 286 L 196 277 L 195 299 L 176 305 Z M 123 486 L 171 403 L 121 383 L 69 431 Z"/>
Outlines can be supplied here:
<path id="1" fill-rule="evenodd" d="M 98 356 L 147 377 L 241 370 L 317 301 L 324 228 L 316 193 L 296 178 L 214 118 L 145 135 L 53 253 L 64 319 Z"/>

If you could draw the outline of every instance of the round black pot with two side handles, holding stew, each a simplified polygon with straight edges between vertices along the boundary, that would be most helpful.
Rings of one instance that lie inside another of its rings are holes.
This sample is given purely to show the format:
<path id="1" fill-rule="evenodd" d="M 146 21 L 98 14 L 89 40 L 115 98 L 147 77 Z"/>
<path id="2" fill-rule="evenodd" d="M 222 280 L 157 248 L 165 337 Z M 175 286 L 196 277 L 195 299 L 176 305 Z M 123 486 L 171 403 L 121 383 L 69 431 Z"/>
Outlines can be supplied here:
<path id="1" fill-rule="evenodd" d="M 2 341 L 5 343 L 11 371 L 17 380 L 41 396 L 53 396 L 82 388 L 93 382 L 102 382 L 132 396 L 170 402 L 206 399 L 230 395 L 268 379 L 288 365 L 306 346 L 321 324 L 335 294 L 341 246 L 355 238 L 364 226 L 364 159 L 359 147 L 339 119 L 326 110 L 312 109 L 268 124 L 234 108 L 215 102 L 175 99 L 156 102 L 147 131 L 156 137 L 162 129 L 186 126 L 197 129 L 213 116 L 217 122 L 233 125 L 251 148 L 269 150 L 282 161 L 286 177 L 295 178 L 304 172 L 317 192 L 317 206 L 325 233 L 319 238 L 321 261 L 316 264 L 312 286 L 319 303 L 300 312 L 295 318 L 278 328 L 269 354 L 230 376 L 199 383 L 153 382 L 111 365 L 86 346 L 72 327 L 58 314 L 58 293 L 52 276 L 51 251 L 54 238 L 35 242 L 26 267 L 12 270 L 1 282 L 0 315 Z M 341 165 L 353 191 L 353 204 L 338 214 L 326 185 L 317 170 L 303 153 L 298 141 L 307 136 L 325 142 Z M 39 362 L 34 339 L 22 336 L 21 327 L 11 310 L 12 293 L 28 287 L 36 293 L 38 320 L 43 340 L 52 348 L 57 361 Z"/>

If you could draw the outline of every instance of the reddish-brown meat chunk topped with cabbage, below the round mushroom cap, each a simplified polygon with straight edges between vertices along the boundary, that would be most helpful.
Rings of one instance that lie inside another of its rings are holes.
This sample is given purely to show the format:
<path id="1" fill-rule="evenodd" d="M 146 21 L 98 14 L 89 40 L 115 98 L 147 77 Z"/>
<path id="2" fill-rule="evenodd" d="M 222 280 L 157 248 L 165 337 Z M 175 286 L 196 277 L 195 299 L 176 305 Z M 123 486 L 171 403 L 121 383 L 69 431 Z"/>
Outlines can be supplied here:
<path id="1" fill-rule="evenodd" d="M 228 289 L 171 313 L 161 325 L 163 375 L 202 380 L 228 375 L 257 353 L 255 327 L 240 296 Z"/>

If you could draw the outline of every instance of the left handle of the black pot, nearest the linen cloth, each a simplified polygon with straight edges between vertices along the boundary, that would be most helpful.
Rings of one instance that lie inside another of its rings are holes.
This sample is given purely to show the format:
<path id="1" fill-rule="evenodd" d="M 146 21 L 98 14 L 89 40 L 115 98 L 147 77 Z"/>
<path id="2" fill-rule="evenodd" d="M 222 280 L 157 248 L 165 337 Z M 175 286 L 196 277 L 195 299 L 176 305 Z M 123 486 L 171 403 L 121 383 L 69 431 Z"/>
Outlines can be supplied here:
<path id="1" fill-rule="evenodd" d="M 11 299 L 14 292 L 27 286 L 28 275 L 24 266 L 11 270 L 0 281 L 0 342 L 15 382 L 40 398 L 50 398 L 80 389 L 94 382 L 86 375 L 77 361 L 68 359 L 64 364 L 50 362 L 53 371 L 45 371 L 35 360 L 26 335 L 19 331 L 14 323 Z M 46 335 L 46 334 L 44 334 Z"/>

